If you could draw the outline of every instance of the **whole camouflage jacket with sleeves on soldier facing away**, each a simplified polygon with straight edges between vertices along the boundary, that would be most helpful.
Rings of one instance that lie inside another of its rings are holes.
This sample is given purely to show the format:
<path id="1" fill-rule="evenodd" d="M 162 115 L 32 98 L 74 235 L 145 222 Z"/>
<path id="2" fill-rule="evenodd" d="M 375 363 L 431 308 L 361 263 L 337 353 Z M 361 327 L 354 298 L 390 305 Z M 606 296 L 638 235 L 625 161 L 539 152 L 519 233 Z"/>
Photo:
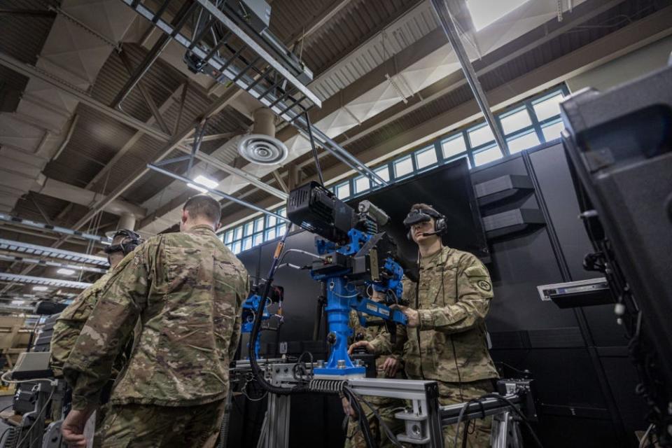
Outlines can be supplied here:
<path id="1" fill-rule="evenodd" d="M 141 332 L 113 404 L 225 398 L 249 289 L 244 266 L 205 225 L 148 239 L 133 255 L 114 270 L 64 366 L 73 409 L 97 404 L 138 317 Z"/>

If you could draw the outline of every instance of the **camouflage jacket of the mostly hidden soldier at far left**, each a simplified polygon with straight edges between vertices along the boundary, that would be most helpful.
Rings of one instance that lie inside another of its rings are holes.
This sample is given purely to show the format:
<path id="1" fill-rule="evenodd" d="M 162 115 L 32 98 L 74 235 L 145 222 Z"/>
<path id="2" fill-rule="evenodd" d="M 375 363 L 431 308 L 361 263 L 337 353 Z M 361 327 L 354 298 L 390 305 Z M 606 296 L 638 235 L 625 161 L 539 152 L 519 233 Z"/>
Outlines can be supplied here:
<path id="1" fill-rule="evenodd" d="M 56 377 L 63 376 L 63 365 L 68 360 L 72 347 L 79 336 L 87 318 L 112 272 L 100 277 L 95 283 L 80 293 L 71 304 L 56 318 L 54 332 L 51 337 L 51 359 L 49 364 Z"/>

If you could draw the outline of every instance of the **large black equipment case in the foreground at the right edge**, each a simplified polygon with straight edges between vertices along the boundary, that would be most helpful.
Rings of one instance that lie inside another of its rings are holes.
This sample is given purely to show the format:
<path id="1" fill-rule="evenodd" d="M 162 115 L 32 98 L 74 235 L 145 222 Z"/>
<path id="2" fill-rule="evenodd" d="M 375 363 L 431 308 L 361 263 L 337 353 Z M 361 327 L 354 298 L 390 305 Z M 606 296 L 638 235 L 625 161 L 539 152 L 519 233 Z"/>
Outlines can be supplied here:
<path id="1" fill-rule="evenodd" d="M 667 421 L 658 422 L 661 435 L 672 426 L 672 67 L 577 92 L 561 113 L 582 216 L 622 298 L 647 400 Z"/>

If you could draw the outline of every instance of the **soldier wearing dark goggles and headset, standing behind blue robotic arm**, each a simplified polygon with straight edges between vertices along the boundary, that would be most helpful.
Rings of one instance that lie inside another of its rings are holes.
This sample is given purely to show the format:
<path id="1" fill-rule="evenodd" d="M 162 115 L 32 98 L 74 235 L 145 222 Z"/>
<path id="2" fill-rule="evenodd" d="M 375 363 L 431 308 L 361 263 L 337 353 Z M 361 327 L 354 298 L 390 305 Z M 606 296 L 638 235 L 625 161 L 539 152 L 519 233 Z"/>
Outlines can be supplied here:
<path id="1" fill-rule="evenodd" d="M 432 379 L 439 402 L 452 405 L 493 391 L 498 377 L 486 342 L 485 316 L 492 300 L 488 270 L 474 255 L 442 245 L 445 218 L 426 204 L 415 204 L 405 225 L 419 247 L 419 283 L 404 279 L 404 296 L 414 308 L 400 307 L 408 325 L 397 326 L 397 346 L 387 335 L 365 346 L 371 353 L 391 353 L 403 345 L 410 379 Z M 491 419 L 474 420 L 468 447 L 489 447 Z M 445 446 L 454 445 L 455 426 L 444 428 Z M 461 433 L 463 428 L 461 428 Z"/>

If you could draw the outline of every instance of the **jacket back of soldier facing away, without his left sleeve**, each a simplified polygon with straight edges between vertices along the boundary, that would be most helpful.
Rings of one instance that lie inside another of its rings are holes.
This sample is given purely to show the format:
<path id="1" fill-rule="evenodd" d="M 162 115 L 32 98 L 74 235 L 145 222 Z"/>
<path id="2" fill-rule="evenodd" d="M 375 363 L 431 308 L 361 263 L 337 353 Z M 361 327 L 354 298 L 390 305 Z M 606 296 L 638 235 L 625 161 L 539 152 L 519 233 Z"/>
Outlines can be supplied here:
<path id="1" fill-rule="evenodd" d="M 207 226 L 149 239 L 143 328 L 116 404 L 188 406 L 224 398 L 247 273 Z"/>

